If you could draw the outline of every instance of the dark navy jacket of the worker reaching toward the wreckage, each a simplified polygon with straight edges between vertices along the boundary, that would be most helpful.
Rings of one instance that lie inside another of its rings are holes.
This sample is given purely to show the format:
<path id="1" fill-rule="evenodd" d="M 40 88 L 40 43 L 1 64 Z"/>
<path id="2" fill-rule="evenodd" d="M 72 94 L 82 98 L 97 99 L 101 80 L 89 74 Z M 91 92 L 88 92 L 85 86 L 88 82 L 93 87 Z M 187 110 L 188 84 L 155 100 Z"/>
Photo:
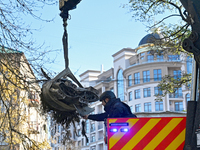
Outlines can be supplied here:
<path id="1" fill-rule="evenodd" d="M 136 117 L 132 114 L 130 107 L 121 102 L 119 98 L 110 99 L 104 106 L 105 113 L 89 115 L 88 119 L 95 121 L 104 121 L 106 118 L 124 118 L 124 117 Z"/>

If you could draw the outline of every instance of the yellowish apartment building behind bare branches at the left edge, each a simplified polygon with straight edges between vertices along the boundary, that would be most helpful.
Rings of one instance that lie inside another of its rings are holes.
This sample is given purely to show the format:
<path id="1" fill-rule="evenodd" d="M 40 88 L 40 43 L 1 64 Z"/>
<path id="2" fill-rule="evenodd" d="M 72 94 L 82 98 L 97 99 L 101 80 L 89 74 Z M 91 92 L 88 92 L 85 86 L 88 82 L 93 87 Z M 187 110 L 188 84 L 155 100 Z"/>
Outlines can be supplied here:
<path id="1" fill-rule="evenodd" d="M 24 53 L 0 47 L 0 60 L 0 149 L 31 149 L 34 141 L 47 150 L 48 123 L 39 111 L 40 86 Z"/>

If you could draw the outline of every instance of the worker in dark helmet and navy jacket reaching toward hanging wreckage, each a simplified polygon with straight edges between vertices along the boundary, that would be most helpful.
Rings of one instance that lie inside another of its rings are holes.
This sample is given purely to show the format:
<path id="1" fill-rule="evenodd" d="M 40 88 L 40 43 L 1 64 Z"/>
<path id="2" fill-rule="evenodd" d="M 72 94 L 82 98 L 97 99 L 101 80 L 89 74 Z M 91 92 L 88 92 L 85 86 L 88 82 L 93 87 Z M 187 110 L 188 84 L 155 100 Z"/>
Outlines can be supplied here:
<path id="1" fill-rule="evenodd" d="M 130 107 L 121 102 L 119 98 L 116 98 L 112 91 L 105 91 L 101 94 L 100 101 L 104 106 L 105 112 L 101 114 L 85 115 L 83 116 L 84 119 L 104 121 L 106 118 L 136 118 L 136 115 L 131 112 Z"/>

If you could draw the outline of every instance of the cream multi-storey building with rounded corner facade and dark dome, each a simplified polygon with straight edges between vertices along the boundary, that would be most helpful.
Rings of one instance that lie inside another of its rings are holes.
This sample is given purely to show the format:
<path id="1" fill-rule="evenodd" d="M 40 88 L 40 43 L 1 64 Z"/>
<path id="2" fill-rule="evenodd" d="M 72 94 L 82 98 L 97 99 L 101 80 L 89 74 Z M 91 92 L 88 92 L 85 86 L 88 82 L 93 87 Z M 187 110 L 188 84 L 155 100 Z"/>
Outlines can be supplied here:
<path id="1" fill-rule="evenodd" d="M 187 101 L 190 100 L 190 88 L 182 86 L 175 93 L 164 97 L 157 87 L 165 75 L 180 77 L 183 73 L 192 73 L 192 59 L 184 53 L 167 53 L 167 48 L 153 46 L 154 39 L 162 35 L 152 33 L 139 42 L 138 47 L 123 48 L 112 55 L 113 67 L 106 71 L 87 70 L 80 75 L 84 87 L 93 86 L 99 93 L 113 91 L 117 97 L 127 103 L 138 117 L 185 116 Z M 93 113 L 104 112 L 100 102 L 90 105 Z M 87 120 L 89 142 L 82 139 L 81 150 L 105 150 L 103 122 Z M 99 126 L 103 126 L 99 129 Z"/>

